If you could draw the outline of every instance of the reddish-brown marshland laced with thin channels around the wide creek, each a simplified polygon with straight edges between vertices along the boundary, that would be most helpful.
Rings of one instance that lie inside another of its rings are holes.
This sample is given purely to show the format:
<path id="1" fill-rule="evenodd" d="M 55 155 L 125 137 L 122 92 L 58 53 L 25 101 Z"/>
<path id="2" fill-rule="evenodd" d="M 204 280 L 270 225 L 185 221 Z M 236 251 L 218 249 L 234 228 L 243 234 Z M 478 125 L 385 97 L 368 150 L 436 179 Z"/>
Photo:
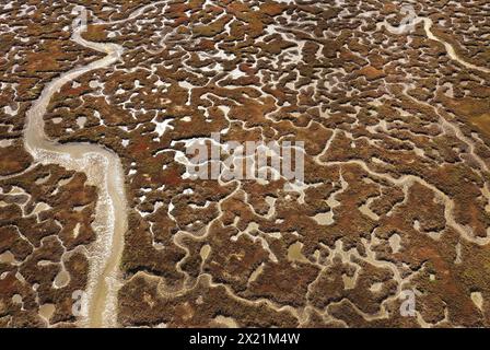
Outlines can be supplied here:
<path id="1" fill-rule="evenodd" d="M 117 326 L 489 327 L 490 3 L 18 0 L 0 4 L 0 326 L 77 327 L 101 192 L 47 137 L 120 159 Z M 133 15 L 131 15 L 133 14 Z M 98 24 L 97 24 L 98 23 Z M 446 45 L 445 45 L 445 44 Z M 454 55 L 450 55 L 453 48 Z M 465 65 L 466 63 L 466 65 Z M 188 140 L 305 142 L 305 186 L 191 179 Z M 91 288 L 101 288 L 92 285 Z M 401 315 L 404 291 L 416 314 Z M 90 318 L 91 315 L 88 317 Z M 86 320 L 86 319 L 85 319 Z"/>

